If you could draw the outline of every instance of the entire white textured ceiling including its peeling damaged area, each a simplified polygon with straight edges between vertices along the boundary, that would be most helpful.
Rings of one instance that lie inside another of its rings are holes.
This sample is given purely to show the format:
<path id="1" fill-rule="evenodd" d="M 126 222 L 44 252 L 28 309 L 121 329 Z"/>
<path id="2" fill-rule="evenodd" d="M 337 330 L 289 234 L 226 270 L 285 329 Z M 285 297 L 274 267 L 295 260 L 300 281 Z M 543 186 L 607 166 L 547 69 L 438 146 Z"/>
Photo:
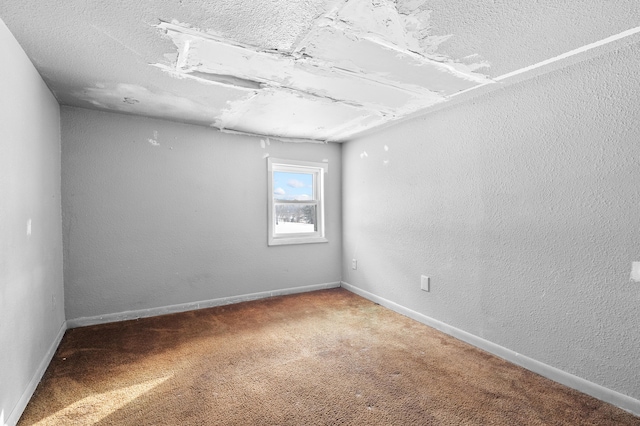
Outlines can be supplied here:
<path id="1" fill-rule="evenodd" d="M 637 0 L 4 0 L 63 105 L 344 141 L 634 29 Z"/>

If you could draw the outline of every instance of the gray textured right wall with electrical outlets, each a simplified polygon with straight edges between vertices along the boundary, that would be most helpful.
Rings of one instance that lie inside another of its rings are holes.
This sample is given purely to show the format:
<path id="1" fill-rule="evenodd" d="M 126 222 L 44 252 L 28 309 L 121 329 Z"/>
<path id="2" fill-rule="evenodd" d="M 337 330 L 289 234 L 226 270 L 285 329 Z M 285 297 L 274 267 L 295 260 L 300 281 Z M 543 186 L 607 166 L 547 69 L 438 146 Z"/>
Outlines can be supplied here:
<path id="1" fill-rule="evenodd" d="M 343 280 L 640 398 L 638 57 L 346 143 Z"/>

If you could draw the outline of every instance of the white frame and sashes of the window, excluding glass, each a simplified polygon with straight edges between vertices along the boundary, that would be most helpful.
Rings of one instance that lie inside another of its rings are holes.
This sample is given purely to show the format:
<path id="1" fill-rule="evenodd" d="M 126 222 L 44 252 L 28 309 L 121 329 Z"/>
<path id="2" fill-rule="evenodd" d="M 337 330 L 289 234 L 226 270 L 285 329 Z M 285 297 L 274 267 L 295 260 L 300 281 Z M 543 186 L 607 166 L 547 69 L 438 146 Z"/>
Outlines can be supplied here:
<path id="1" fill-rule="evenodd" d="M 324 179 L 329 171 L 327 163 L 312 161 L 284 160 L 281 158 L 267 158 L 269 214 L 268 214 L 268 244 L 278 246 L 285 244 L 309 244 L 326 243 L 324 226 Z M 276 201 L 274 199 L 273 174 L 274 172 L 310 173 L 313 175 L 314 199 L 309 201 Z M 316 230 L 297 234 L 276 233 L 276 205 L 278 204 L 313 204 L 316 206 Z"/>

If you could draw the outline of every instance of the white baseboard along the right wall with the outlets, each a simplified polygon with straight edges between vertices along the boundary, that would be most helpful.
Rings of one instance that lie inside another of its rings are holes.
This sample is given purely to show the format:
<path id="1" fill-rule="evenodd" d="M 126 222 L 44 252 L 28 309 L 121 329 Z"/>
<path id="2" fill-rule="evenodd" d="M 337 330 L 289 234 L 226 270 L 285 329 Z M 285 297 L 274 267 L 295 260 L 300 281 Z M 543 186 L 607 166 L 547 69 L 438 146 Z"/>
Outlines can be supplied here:
<path id="1" fill-rule="evenodd" d="M 590 382 L 581 377 L 574 376 L 573 374 L 567 373 L 566 371 L 560 370 L 558 368 L 537 361 L 533 358 L 529 358 L 527 356 L 514 352 L 511 349 L 507 349 L 503 346 L 497 345 L 464 330 L 450 326 L 449 324 L 438 321 L 409 308 L 405 308 L 404 306 L 387 300 L 383 297 L 376 296 L 373 293 L 369 293 L 368 291 L 362 290 L 347 282 L 343 281 L 341 286 L 344 289 L 351 291 L 352 293 L 364 297 L 365 299 L 371 300 L 372 302 L 378 303 L 385 308 L 389 308 L 392 311 L 428 325 L 429 327 L 435 328 L 436 330 L 442 331 L 445 334 L 448 334 L 452 337 L 455 337 L 456 339 L 462 340 L 463 342 L 469 343 L 470 345 L 492 353 L 493 355 L 505 359 L 513 364 L 519 365 L 523 368 L 526 368 L 527 370 L 533 371 L 534 373 L 537 373 L 555 382 L 568 386 L 587 395 L 593 396 L 594 398 L 608 402 L 609 404 L 613 404 L 636 416 L 640 416 L 640 401 L 637 399 L 631 398 L 630 396 L 605 388 L 604 386 Z"/>

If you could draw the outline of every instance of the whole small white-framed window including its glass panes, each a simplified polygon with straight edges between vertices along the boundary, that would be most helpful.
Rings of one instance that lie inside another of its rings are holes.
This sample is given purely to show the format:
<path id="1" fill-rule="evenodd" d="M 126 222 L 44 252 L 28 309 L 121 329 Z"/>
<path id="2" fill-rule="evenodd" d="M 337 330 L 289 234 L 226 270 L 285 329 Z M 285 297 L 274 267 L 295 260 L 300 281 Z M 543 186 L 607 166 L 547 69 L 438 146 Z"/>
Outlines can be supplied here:
<path id="1" fill-rule="evenodd" d="M 328 164 L 268 158 L 269 245 L 324 243 Z"/>

